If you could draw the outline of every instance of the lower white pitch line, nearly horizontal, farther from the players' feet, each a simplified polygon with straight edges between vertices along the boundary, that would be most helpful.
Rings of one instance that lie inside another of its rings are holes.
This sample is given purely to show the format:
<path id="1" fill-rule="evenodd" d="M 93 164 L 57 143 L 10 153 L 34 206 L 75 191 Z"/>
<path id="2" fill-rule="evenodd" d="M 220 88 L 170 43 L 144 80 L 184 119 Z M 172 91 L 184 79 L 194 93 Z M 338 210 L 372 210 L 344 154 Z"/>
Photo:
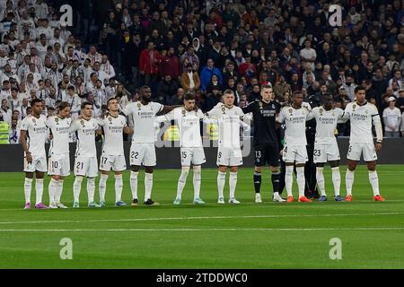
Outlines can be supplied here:
<path id="1" fill-rule="evenodd" d="M 404 230 L 404 227 L 364 227 L 364 228 L 162 228 L 162 229 L 93 229 L 93 230 L 83 230 L 83 229 L 60 229 L 60 230 L 0 230 L 0 232 L 119 232 L 119 231 L 135 231 L 135 232 L 145 232 L 145 231 L 372 231 L 372 230 Z"/>

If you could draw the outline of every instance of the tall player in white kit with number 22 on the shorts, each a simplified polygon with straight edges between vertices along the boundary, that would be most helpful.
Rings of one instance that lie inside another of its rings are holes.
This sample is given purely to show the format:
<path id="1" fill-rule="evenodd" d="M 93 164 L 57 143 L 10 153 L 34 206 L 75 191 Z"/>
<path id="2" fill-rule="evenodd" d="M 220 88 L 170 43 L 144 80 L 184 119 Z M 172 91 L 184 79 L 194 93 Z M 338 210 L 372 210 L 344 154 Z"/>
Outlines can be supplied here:
<path id="1" fill-rule="evenodd" d="M 153 172 L 156 165 L 154 146 L 154 119 L 157 114 L 166 114 L 180 106 L 163 106 L 158 102 L 151 101 L 152 90 L 143 86 L 139 91 L 140 100 L 129 103 L 122 113 L 132 117 L 134 123 L 134 135 L 130 147 L 129 161 L 130 189 L 132 190 L 132 206 L 138 204 L 137 177 L 140 167 L 145 166 L 145 205 L 158 205 L 152 200 Z"/>

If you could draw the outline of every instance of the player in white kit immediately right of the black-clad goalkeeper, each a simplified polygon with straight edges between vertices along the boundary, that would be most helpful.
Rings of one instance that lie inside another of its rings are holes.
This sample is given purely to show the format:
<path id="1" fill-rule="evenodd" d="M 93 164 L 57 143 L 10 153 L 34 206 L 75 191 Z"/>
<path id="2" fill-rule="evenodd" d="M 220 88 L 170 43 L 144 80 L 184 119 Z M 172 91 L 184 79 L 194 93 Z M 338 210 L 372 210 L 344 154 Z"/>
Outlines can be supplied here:
<path id="1" fill-rule="evenodd" d="M 287 202 L 294 202 L 292 194 L 294 163 L 296 165 L 297 186 L 299 187 L 299 202 L 312 202 L 304 196 L 304 165 L 308 161 L 306 149 L 306 120 L 311 107 L 303 103 L 302 91 L 294 91 L 292 104 L 281 109 L 277 122 L 285 123 L 285 148 L 283 160 L 285 161 L 285 187 L 287 191 Z"/>

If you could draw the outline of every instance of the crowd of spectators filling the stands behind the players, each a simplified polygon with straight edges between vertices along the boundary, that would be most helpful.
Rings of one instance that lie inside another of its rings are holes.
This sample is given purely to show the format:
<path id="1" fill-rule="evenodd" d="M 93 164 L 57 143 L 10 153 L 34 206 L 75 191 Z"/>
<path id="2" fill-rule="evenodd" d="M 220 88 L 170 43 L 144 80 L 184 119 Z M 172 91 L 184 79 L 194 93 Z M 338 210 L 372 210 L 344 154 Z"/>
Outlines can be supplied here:
<path id="1" fill-rule="evenodd" d="M 281 103 L 294 91 L 318 103 L 329 92 L 344 109 L 362 85 L 385 136 L 404 135 L 403 1 L 333 1 L 339 27 L 329 25 L 324 0 L 75 0 L 73 27 L 59 22 L 62 4 L 0 2 L 0 122 L 9 143 L 18 143 L 32 99 L 43 100 L 46 115 L 68 101 L 74 118 L 88 100 L 99 117 L 108 99 L 123 108 L 145 84 L 167 105 L 194 91 L 203 111 L 225 89 L 246 106 L 264 84 Z M 337 134 L 348 135 L 347 126 Z"/>

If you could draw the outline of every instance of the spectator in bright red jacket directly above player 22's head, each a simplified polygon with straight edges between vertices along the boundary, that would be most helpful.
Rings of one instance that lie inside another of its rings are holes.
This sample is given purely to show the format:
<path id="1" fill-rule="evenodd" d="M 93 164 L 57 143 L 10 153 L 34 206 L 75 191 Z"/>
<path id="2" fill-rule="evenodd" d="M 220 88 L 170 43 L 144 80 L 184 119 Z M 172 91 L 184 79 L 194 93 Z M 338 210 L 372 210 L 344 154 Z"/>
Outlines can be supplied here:
<path id="1" fill-rule="evenodd" d="M 147 48 L 140 53 L 139 58 L 139 72 L 143 75 L 145 84 L 155 80 L 159 74 L 160 62 L 160 54 L 154 49 L 154 42 L 150 41 Z"/>

